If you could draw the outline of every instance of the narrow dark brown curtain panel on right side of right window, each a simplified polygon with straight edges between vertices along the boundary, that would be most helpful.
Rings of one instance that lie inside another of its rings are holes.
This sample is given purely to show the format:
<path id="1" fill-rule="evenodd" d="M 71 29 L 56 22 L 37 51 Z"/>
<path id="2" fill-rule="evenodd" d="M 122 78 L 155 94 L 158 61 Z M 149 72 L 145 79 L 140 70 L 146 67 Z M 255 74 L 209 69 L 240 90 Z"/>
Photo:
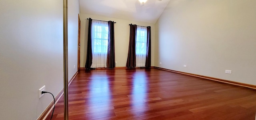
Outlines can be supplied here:
<path id="1" fill-rule="evenodd" d="M 147 51 L 145 67 L 151 66 L 151 27 L 147 27 Z"/>

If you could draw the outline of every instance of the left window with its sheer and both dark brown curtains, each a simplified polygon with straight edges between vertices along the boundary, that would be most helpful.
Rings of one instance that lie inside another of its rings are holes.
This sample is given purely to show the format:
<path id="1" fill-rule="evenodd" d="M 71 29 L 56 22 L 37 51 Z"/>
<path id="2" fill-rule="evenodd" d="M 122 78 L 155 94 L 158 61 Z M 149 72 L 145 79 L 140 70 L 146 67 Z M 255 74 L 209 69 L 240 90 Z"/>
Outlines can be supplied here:
<path id="1" fill-rule="evenodd" d="M 87 69 L 115 67 L 114 23 L 89 18 Z"/>

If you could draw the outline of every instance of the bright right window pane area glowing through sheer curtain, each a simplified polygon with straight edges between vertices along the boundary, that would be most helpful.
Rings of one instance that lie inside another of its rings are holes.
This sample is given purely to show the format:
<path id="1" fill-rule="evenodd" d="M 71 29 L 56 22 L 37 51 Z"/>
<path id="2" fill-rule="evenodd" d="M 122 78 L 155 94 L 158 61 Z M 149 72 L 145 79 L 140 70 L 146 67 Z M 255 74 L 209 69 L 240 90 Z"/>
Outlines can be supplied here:
<path id="1" fill-rule="evenodd" d="M 136 55 L 146 55 L 147 49 L 147 28 L 146 27 L 137 27 L 136 35 Z"/>

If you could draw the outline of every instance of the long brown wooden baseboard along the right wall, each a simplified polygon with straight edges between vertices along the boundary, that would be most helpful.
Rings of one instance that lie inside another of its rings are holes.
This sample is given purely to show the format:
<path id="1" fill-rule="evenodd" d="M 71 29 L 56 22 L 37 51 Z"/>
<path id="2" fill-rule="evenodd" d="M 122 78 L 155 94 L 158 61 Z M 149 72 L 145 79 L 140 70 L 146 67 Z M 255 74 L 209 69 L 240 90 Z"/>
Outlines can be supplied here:
<path id="1" fill-rule="evenodd" d="M 205 79 L 214 80 L 214 81 L 217 81 L 217 82 L 224 82 L 224 83 L 233 84 L 233 85 L 236 85 L 236 86 L 243 86 L 243 87 L 247 87 L 247 88 L 256 89 L 256 86 L 251 85 L 251 84 L 245 84 L 245 83 L 241 83 L 241 82 L 234 82 L 234 81 L 224 80 L 224 79 L 220 79 L 220 78 L 202 76 L 202 75 L 192 74 L 192 73 L 188 73 L 188 72 L 180 72 L 180 71 L 176 71 L 176 70 L 169 70 L 169 69 L 160 68 L 160 67 L 154 67 L 154 68 L 161 69 L 161 70 L 166 70 L 166 71 L 170 71 L 170 72 L 176 72 L 176 73 L 180 73 L 180 74 L 186 74 L 186 75 L 195 76 L 195 77 L 199 77 L 199 78 L 205 78 Z"/>

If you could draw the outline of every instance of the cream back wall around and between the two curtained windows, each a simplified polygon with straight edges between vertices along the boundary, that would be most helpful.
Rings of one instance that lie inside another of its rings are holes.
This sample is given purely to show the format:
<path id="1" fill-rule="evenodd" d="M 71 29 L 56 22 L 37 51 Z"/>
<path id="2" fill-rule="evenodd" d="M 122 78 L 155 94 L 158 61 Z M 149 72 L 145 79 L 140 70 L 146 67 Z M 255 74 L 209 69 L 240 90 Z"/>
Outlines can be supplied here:
<path id="1" fill-rule="evenodd" d="M 95 20 L 115 21 L 115 60 L 117 61 L 116 67 L 125 67 L 128 55 L 130 26 L 129 24 L 137 24 L 139 26 L 151 26 L 151 66 L 154 66 L 154 42 L 155 42 L 155 24 L 130 21 L 124 19 L 96 16 L 90 14 L 80 14 L 81 18 L 81 59 L 80 67 L 85 67 L 86 52 L 87 52 L 87 40 L 88 40 L 88 20 L 92 18 Z"/>

